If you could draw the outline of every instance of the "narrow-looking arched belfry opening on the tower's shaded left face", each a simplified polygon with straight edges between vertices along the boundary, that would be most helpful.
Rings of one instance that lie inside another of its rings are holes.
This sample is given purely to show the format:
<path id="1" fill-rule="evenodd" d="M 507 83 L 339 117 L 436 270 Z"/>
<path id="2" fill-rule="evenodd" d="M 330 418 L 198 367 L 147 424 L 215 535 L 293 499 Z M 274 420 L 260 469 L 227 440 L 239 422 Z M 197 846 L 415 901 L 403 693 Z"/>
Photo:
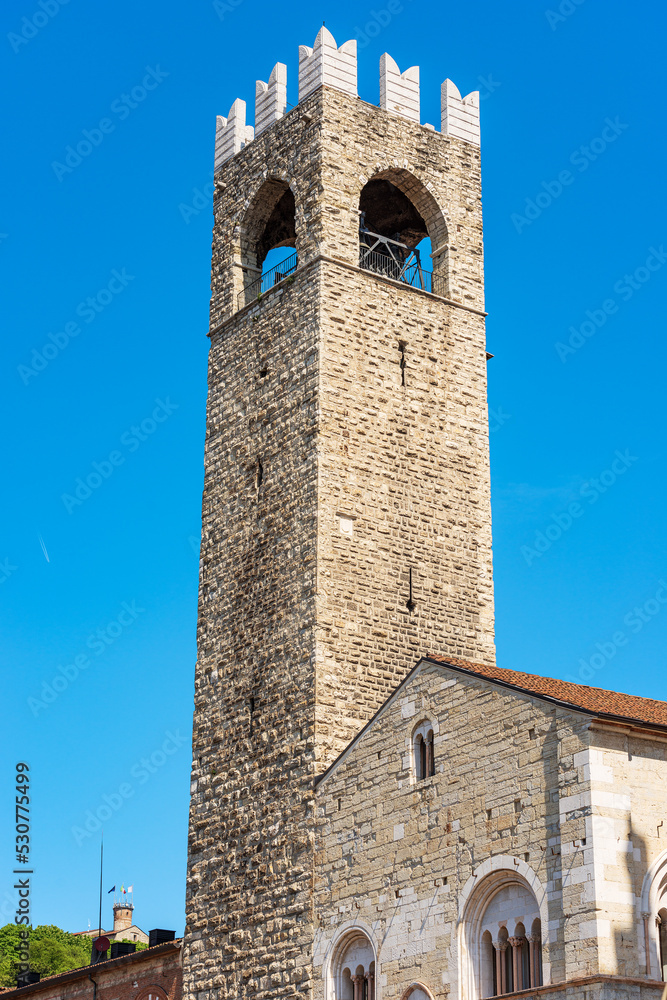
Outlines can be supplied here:
<path id="1" fill-rule="evenodd" d="M 277 178 L 262 184 L 241 231 L 243 290 L 238 308 L 296 270 L 296 205 L 289 185 Z"/>

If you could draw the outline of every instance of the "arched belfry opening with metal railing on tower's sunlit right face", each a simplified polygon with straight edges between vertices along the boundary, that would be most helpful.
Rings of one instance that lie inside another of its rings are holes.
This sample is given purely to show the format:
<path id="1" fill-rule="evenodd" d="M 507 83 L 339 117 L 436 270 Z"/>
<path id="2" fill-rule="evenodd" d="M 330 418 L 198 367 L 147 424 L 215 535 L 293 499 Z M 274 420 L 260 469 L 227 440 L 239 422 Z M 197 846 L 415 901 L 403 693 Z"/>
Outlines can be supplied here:
<path id="1" fill-rule="evenodd" d="M 372 177 L 359 199 L 359 266 L 447 295 L 448 237 L 433 195 L 407 170 Z"/>

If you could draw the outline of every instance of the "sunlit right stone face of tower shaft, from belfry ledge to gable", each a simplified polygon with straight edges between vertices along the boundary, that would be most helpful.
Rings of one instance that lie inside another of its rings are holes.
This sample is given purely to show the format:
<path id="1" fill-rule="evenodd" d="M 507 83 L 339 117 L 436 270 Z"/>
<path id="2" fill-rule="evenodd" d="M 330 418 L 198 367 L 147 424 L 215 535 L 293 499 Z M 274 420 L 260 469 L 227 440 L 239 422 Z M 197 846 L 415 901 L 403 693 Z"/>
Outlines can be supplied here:
<path id="1" fill-rule="evenodd" d="M 493 661 L 493 582 L 482 317 L 325 263 L 321 345 L 316 712 L 328 764 L 420 655 Z"/>

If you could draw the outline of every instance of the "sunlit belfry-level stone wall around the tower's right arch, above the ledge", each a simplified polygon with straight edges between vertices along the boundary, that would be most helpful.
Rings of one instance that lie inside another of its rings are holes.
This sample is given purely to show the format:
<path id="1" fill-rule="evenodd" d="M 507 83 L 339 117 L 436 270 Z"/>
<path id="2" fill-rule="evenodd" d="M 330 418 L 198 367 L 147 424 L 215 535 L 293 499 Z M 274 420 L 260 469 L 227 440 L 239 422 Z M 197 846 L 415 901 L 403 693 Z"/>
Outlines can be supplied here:
<path id="1" fill-rule="evenodd" d="M 448 297 L 483 310 L 479 148 L 337 90 L 325 87 L 316 96 L 324 201 L 324 210 L 313 216 L 317 251 L 358 263 L 359 196 L 372 177 L 386 177 L 421 212 L 437 258 L 434 270 L 446 271 Z"/>

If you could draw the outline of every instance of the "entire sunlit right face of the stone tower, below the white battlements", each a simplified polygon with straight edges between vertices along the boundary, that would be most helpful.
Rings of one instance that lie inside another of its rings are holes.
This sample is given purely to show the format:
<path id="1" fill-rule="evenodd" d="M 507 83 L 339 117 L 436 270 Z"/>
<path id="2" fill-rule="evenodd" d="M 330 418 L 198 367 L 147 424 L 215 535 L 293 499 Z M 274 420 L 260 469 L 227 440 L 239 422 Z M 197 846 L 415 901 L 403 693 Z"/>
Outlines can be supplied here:
<path id="1" fill-rule="evenodd" d="M 421 654 L 493 662 L 495 648 L 479 150 L 336 90 L 321 95 L 316 712 L 326 765 Z M 434 270 L 469 308 L 356 266 L 359 199 L 377 175 L 421 212 Z"/>

